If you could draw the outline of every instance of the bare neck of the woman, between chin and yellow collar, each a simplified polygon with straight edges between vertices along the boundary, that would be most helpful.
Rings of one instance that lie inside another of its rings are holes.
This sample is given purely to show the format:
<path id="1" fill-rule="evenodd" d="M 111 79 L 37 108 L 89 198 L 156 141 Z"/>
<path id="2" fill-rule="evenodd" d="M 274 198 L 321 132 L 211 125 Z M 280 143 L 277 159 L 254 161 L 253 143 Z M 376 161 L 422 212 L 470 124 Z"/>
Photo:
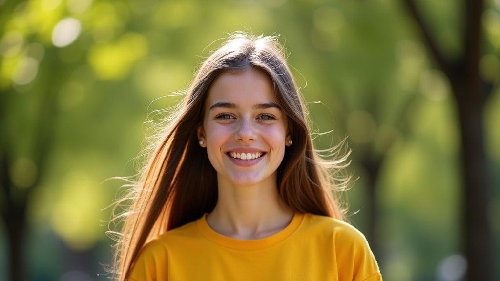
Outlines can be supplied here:
<path id="1" fill-rule="evenodd" d="M 218 199 L 206 216 L 216 232 L 239 239 L 258 239 L 288 225 L 294 211 L 277 193 L 276 175 L 257 185 L 238 186 L 218 177 Z"/>

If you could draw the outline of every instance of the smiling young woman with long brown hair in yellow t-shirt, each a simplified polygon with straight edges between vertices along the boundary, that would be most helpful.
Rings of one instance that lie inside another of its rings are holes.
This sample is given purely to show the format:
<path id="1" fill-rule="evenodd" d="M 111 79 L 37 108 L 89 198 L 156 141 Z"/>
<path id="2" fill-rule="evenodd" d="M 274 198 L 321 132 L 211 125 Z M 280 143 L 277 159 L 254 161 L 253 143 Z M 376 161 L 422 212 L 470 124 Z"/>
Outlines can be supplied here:
<path id="1" fill-rule="evenodd" d="M 314 149 L 282 49 L 276 36 L 235 32 L 202 63 L 117 202 L 132 204 L 118 216 L 114 279 L 382 279 L 343 221 L 348 177 L 336 174 L 348 153 Z"/>

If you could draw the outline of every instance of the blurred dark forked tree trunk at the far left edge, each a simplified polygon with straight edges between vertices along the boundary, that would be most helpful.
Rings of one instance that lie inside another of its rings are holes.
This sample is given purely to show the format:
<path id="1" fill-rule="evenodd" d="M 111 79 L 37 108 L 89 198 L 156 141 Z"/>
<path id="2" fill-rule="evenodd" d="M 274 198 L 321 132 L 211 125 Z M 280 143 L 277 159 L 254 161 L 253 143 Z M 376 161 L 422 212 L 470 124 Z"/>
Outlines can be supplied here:
<path id="1" fill-rule="evenodd" d="M 57 64 L 56 51 L 53 48 L 48 48 L 45 54 L 46 63 L 53 66 L 52 69 L 61 68 Z M 50 67 L 48 67 L 50 68 Z M 37 188 L 40 178 L 44 175 L 47 167 L 46 163 L 48 155 L 52 147 L 52 139 L 54 137 L 55 118 L 57 113 L 57 94 L 60 86 L 57 83 L 58 79 L 64 80 L 64 70 L 62 74 L 54 76 L 52 73 L 40 73 L 38 79 L 45 79 L 47 81 L 46 88 L 40 88 L 39 93 L 43 94 L 41 98 L 41 105 L 39 108 L 39 115 L 36 116 L 37 125 L 34 126 L 35 137 L 33 137 L 33 153 L 30 155 L 37 168 L 37 174 L 34 182 L 27 187 L 15 186 L 14 182 L 10 179 L 9 171 L 12 167 L 15 154 L 13 148 L 15 146 L 15 139 L 0 139 L 0 191 L 3 191 L 5 203 L 0 205 L 0 216 L 5 222 L 6 239 L 9 245 L 9 267 L 10 267 L 10 280 L 11 281 L 24 281 L 26 280 L 26 262 L 24 258 L 24 243 L 26 235 L 26 204 L 29 194 Z M 10 95 L 9 95 L 10 94 Z M 0 116 L 5 114 L 4 106 L 7 106 L 8 98 L 15 98 L 16 92 L 13 90 L 8 92 L 5 96 L 5 103 L 0 103 Z M 12 97 L 13 96 L 13 97 Z M 2 131 L 3 133 L 4 131 Z M 18 192 L 18 194 L 16 193 Z"/>

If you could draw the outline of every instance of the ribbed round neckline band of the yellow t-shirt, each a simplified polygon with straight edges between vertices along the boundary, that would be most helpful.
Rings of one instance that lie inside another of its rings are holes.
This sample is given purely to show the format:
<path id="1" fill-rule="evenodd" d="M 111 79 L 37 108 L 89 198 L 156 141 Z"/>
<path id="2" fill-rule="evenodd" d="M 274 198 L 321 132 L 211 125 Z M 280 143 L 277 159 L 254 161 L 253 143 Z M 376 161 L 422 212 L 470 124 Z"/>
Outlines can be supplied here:
<path id="1" fill-rule="evenodd" d="M 279 243 L 280 241 L 286 239 L 286 237 L 290 236 L 300 226 L 304 217 L 303 213 L 295 212 L 290 223 L 288 223 L 288 225 L 286 225 L 286 227 L 281 229 L 279 232 L 259 239 L 246 240 L 231 238 L 216 232 L 206 221 L 207 214 L 207 212 L 203 213 L 203 215 L 195 221 L 194 225 L 196 230 L 202 236 L 216 244 L 237 250 L 258 250 Z"/>

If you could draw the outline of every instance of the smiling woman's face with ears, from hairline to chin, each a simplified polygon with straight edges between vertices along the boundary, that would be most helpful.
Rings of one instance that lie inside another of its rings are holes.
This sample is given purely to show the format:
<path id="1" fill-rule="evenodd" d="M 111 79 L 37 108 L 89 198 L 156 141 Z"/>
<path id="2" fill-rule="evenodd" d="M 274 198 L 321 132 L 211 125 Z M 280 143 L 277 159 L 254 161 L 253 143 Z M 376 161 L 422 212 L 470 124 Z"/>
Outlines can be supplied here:
<path id="1" fill-rule="evenodd" d="M 254 185 L 275 176 L 289 145 L 286 124 L 271 79 L 250 68 L 215 78 L 197 135 L 219 181 Z"/>

